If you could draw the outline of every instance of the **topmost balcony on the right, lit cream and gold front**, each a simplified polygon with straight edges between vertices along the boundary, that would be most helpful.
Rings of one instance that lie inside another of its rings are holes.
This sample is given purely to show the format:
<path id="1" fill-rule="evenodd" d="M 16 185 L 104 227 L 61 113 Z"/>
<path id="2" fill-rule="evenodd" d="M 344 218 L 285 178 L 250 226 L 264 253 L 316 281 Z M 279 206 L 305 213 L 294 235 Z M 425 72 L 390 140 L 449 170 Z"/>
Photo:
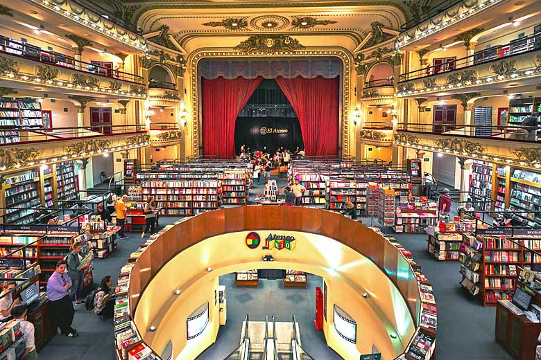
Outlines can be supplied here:
<path id="1" fill-rule="evenodd" d="M 513 21 L 536 7 L 537 0 L 448 0 L 404 24 L 396 46 L 418 51 L 474 28 L 494 28 L 502 20 Z"/>

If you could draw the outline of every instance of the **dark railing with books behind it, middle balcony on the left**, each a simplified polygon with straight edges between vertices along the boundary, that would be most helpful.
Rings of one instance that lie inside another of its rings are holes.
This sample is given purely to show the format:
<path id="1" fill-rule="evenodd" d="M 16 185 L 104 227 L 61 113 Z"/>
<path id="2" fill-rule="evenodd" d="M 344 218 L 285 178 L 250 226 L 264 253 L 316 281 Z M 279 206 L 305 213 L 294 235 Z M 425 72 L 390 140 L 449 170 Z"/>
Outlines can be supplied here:
<path id="1" fill-rule="evenodd" d="M 137 84 L 144 83 L 144 78 L 142 76 L 124 73 L 123 71 L 114 70 L 105 66 L 76 60 L 74 57 L 57 53 L 55 51 L 45 51 L 39 46 L 34 46 L 26 42 L 17 42 L 1 35 L 0 53 L 6 53 L 16 57 L 23 57 L 24 59 L 41 62 L 46 65 L 53 65 L 60 68 L 104 76 L 105 78 L 110 78 L 113 80 L 135 82 Z"/>

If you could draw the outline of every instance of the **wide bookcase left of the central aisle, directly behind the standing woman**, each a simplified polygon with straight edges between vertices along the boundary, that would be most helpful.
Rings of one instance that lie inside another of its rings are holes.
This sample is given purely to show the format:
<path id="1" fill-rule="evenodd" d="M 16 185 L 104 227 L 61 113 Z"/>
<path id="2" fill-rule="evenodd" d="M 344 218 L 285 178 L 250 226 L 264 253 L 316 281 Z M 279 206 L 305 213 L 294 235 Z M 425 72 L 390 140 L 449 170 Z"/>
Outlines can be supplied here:
<path id="1" fill-rule="evenodd" d="M 221 192 L 222 182 L 217 180 L 153 180 L 141 185 L 143 200 L 153 195 L 164 215 L 191 216 L 217 209 L 221 206 Z"/>

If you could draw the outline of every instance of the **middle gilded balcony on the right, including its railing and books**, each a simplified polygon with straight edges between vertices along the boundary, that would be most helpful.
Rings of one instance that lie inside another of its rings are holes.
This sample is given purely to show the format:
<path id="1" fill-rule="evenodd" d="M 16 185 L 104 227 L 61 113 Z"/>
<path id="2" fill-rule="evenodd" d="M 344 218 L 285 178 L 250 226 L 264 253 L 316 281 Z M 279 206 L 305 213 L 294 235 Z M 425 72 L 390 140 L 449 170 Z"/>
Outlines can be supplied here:
<path id="1" fill-rule="evenodd" d="M 483 89 L 505 89 L 537 84 L 540 76 L 541 33 L 538 33 L 460 59 L 449 58 L 433 62 L 424 69 L 402 73 L 397 96 L 446 96 Z"/>

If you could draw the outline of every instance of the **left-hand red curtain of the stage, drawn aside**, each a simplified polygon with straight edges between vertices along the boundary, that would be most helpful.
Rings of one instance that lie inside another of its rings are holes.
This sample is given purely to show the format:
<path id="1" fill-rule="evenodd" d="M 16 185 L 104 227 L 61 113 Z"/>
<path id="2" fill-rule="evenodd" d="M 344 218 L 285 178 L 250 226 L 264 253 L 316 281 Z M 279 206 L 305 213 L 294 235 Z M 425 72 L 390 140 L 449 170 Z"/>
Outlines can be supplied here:
<path id="1" fill-rule="evenodd" d="M 201 79 L 205 156 L 220 159 L 235 156 L 235 120 L 262 79 Z"/>

